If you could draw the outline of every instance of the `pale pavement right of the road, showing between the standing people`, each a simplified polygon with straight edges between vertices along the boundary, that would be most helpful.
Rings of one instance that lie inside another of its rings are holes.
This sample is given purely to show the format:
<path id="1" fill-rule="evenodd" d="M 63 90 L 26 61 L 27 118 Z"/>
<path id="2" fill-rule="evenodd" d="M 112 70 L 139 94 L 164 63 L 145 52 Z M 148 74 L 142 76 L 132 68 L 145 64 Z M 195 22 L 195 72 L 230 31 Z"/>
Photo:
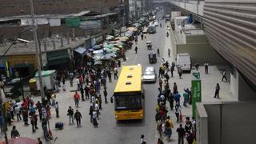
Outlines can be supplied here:
<path id="1" fill-rule="evenodd" d="M 170 23 L 167 23 L 167 26 L 170 26 Z M 171 56 L 170 58 L 168 57 L 168 48 L 171 47 L 170 43 L 170 37 L 166 37 L 166 46 L 162 50 L 162 58 L 165 58 L 169 63 L 174 62 L 174 52 L 172 49 L 171 50 Z M 237 98 L 232 97 L 230 95 L 230 83 L 229 82 L 221 82 L 222 74 L 218 70 L 217 66 L 209 66 L 209 74 L 205 74 L 204 72 L 204 66 L 199 67 L 199 71 L 201 74 L 201 79 L 202 79 L 202 102 L 216 102 L 216 101 L 237 101 Z M 185 73 L 182 74 L 182 79 L 178 78 L 178 73 L 177 70 L 174 70 L 174 78 L 170 78 L 170 89 L 172 90 L 173 88 L 173 83 L 176 82 L 178 85 L 178 91 L 179 93 L 183 94 L 183 90 L 185 88 L 190 88 L 191 87 L 191 74 L 190 73 Z M 214 90 L 216 83 L 220 84 L 221 90 L 220 90 L 220 98 L 213 98 L 214 97 Z M 183 102 L 183 97 L 181 97 L 181 103 Z M 166 107 L 169 110 L 168 115 L 170 115 L 170 118 L 174 122 L 174 129 L 172 129 L 172 136 L 171 140 L 168 140 L 166 136 L 163 134 L 162 135 L 162 141 L 164 143 L 178 143 L 178 133 L 176 132 L 177 128 L 179 127 L 179 122 L 176 122 L 176 116 L 174 114 L 174 110 L 170 110 L 169 107 L 169 102 L 166 102 Z M 182 116 L 183 116 L 183 122 L 182 126 L 184 127 L 185 123 L 185 118 L 190 117 L 190 120 L 192 119 L 192 106 L 187 105 L 187 107 L 182 106 Z M 158 130 L 155 131 L 155 139 L 156 141 L 160 138 L 158 134 Z M 184 139 L 185 143 L 186 140 Z"/>

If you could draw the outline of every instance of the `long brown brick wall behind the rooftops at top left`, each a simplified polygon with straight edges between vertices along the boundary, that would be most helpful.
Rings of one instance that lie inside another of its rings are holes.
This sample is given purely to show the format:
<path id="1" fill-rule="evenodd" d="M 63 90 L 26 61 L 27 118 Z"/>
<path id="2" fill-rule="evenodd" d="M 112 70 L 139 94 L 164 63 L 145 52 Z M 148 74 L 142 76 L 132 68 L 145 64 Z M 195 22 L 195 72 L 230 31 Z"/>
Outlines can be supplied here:
<path id="1" fill-rule="evenodd" d="M 119 0 L 34 0 L 34 14 L 71 14 L 83 10 L 108 13 Z M 0 0 L 0 17 L 30 14 L 30 0 Z"/>

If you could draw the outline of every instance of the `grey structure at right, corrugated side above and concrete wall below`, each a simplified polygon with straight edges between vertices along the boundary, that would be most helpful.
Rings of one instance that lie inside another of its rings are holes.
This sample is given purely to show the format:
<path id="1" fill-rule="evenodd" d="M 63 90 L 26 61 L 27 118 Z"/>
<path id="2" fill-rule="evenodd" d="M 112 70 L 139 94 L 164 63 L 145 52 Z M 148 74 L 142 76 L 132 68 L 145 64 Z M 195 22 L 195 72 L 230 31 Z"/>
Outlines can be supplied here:
<path id="1" fill-rule="evenodd" d="M 256 142 L 256 1 L 163 0 L 202 18 L 210 45 L 231 68 L 230 93 L 238 102 L 197 104 L 199 144 Z"/>

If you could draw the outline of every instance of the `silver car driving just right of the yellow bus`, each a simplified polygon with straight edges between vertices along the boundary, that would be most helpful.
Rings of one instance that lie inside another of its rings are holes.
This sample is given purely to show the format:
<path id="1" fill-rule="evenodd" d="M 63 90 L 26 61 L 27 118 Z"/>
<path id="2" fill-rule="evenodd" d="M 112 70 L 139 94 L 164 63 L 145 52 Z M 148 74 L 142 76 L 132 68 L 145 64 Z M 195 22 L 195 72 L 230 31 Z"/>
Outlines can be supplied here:
<path id="1" fill-rule="evenodd" d="M 156 82 L 157 75 L 153 66 L 147 66 L 142 74 L 142 82 Z"/>

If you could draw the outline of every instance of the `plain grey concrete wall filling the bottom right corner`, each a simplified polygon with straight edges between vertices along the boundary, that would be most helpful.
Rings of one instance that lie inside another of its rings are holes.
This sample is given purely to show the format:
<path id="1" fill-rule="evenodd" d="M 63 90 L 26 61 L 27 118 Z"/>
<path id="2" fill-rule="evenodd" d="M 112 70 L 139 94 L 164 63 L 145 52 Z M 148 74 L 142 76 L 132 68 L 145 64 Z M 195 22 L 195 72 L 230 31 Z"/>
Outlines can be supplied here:
<path id="1" fill-rule="evenodd" d="M 256 142 L 256 102 L 212 102 L 203 106 L 208 116 L 209 144 Z M 199 121 L 198 125 L 202 127 L 203 123 Z"/>

